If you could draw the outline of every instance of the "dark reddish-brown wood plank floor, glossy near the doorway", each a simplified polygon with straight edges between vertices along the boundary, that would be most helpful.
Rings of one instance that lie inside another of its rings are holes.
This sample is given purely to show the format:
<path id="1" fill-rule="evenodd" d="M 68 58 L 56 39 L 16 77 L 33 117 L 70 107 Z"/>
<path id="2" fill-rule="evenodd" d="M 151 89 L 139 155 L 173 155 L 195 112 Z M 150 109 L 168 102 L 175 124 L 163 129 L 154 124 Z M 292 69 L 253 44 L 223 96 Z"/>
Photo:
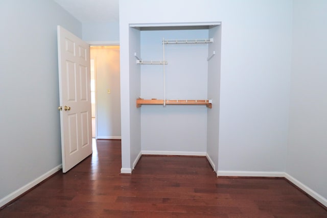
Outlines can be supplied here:
<path id="1" fill-rule="evenodd" d="M 57 173 L 0 217 L 323 218 L 327 211 L 284 179 L 217 178 L 205 158 L 143 156 L 120 175 L 121 141 Z"/>

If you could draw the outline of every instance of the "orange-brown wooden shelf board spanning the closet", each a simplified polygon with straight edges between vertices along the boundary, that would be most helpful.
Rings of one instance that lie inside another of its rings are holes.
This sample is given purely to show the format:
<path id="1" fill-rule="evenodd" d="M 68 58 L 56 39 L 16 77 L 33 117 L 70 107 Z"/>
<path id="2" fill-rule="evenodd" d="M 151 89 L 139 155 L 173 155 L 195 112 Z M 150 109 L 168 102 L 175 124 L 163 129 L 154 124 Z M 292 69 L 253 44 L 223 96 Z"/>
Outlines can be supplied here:
<path id="1" fill-rule="evenodd" d="M 136 107 L 139 108 L 142 105 L 164 105 L 164 100 L 137 99 Z M 208 108 L 212 108 L 210 100 L 166 100 L 166 105 L 206 105 Z"/>

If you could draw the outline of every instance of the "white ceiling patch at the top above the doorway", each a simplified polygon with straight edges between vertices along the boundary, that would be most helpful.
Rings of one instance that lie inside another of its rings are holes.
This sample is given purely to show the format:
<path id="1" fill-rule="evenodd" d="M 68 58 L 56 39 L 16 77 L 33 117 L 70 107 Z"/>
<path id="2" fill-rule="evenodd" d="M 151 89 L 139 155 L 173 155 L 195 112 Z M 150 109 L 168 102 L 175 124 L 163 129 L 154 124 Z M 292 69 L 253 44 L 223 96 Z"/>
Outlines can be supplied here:
<path id="1" fill-rule="evenodd" d="M 119 0 L 54 0 L 80 22 L 119 22 Z"/>

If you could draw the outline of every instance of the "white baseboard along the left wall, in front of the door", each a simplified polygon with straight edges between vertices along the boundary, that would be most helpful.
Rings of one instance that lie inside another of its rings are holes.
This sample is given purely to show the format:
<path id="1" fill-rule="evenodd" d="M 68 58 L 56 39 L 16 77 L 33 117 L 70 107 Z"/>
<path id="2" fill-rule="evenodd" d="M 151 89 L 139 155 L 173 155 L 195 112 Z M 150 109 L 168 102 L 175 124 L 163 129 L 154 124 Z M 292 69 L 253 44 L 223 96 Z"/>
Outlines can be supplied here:
<path id="1" fill-rule="evenodd" d="M 61 168 L 62 168 L 62 164 L 54 167 L 53 169 L 50 169 L 50 171 L 46 172 L 45 174 L 41 175 L 40 177 L 36 178 L 35 180 L 29 182 L 28 184 L 18 188 L 17 190 L 11 192 L 9 195 L 4 197 L 3 199 L 0 199 L 0 207 L 4 206 L 5 204 L 7 204 L 8 202 L 14 200 L 18 196 L 22 195 L 23 193 L 25 193 L 29 189 L 33 188 L 34 186 L 36 186 L 37 184 L 39 184 L 40 182 L 42 182 L 46 178 L 49 178 L 50 176 L 52 176 L 56 172 L 60 171 Z"/>

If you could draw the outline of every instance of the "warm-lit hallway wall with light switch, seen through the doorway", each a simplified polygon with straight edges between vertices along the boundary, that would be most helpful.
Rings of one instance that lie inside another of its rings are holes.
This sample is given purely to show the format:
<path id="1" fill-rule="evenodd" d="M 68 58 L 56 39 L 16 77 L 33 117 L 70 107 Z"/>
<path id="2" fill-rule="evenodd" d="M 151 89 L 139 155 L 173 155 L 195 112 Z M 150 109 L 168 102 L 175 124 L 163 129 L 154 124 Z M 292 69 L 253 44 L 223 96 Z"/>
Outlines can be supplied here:
<path id="1" fill-rule="evenodd" d="M 97 138 L 121 138 L 119 46 L 93 46 L 97 84 Z M 110 89 L 110 94 L 107 90 Z"/>

